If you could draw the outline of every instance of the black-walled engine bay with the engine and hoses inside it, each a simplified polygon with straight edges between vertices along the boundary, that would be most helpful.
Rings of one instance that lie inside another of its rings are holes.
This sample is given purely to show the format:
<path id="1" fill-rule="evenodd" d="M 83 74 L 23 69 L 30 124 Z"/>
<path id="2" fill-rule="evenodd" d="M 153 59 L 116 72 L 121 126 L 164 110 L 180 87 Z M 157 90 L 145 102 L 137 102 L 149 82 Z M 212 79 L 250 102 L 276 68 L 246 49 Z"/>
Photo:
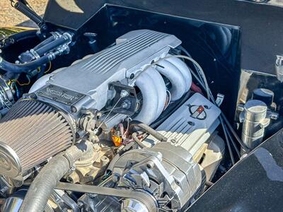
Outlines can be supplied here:
<path id="1" fill-rule="evenodd" d="M 1 40 L 2 211 L 187 211 L 281 126 L 272 90 L 239 101 L 237 27 L 107 13 Z"/>

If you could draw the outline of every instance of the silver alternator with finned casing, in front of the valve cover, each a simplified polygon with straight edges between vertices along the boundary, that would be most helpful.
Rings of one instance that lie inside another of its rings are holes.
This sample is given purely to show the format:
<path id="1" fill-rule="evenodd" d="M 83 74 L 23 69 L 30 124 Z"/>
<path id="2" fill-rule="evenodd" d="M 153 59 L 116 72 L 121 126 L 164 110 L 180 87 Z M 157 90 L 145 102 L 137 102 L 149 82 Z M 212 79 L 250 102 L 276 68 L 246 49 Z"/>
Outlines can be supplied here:
<path id="1" fill-rule="evenodd" d="M 172 209 L 185 206 L 204 180 L 192 155 L 169 142 L 124 153 L 115 163 L 113 175 L 121 176 L 120 187 L 144 189 L 154 194 L 159 207 L 167 204 L 164 197 L 167 194 Z"/>

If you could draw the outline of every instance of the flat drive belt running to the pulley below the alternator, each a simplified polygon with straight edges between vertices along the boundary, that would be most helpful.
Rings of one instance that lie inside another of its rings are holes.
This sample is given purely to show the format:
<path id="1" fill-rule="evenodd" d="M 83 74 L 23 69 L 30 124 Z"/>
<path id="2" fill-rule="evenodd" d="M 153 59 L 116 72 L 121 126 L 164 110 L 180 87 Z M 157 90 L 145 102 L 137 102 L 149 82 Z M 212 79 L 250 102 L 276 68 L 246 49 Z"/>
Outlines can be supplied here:
<path id="1" fill-rule="evenodd" d="M 144 204 L 149 212 L 158 211 L 158 206 L 154 198 L 144 192 L 125 189 L 113 189 L 109 187 L 98 187 L 88 184 L 71 184 L 67 182 L 59 182 L 55 189 L 136 199 L 137 201 L 140 201 L 142 204 Z"/>

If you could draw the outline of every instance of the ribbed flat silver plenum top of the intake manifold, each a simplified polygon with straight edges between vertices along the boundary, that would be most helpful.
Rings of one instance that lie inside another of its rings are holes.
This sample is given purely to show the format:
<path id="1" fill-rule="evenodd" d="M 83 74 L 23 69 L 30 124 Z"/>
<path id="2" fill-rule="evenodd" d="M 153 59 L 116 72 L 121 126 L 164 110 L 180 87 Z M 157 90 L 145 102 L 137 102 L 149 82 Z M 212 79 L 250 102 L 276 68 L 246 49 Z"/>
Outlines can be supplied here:
<path id="1" fill-rule="evenodd" d="M 108 100 L 108 83 L 129 78 L 154 59 L 165 57 L 171 47 L 180 43 L 174 35 L 151 30 L 131 31 L 117 38 L 115 46 L 57 72 L 47 84 L 86 95 L 86 100 L 81 102 L 93 100 L 92 106 L 100 110 Z"/>

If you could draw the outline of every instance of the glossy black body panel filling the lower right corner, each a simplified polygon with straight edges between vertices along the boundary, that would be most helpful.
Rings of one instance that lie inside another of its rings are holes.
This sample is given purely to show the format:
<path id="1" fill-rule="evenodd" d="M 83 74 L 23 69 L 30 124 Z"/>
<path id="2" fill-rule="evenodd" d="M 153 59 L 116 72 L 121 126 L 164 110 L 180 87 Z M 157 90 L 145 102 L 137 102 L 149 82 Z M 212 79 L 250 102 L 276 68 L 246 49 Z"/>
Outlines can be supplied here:
<path id="1" fill-rule="evenodd" d="M 188 211 L 282 211 L 283 129 L 241 160 Z"/>

